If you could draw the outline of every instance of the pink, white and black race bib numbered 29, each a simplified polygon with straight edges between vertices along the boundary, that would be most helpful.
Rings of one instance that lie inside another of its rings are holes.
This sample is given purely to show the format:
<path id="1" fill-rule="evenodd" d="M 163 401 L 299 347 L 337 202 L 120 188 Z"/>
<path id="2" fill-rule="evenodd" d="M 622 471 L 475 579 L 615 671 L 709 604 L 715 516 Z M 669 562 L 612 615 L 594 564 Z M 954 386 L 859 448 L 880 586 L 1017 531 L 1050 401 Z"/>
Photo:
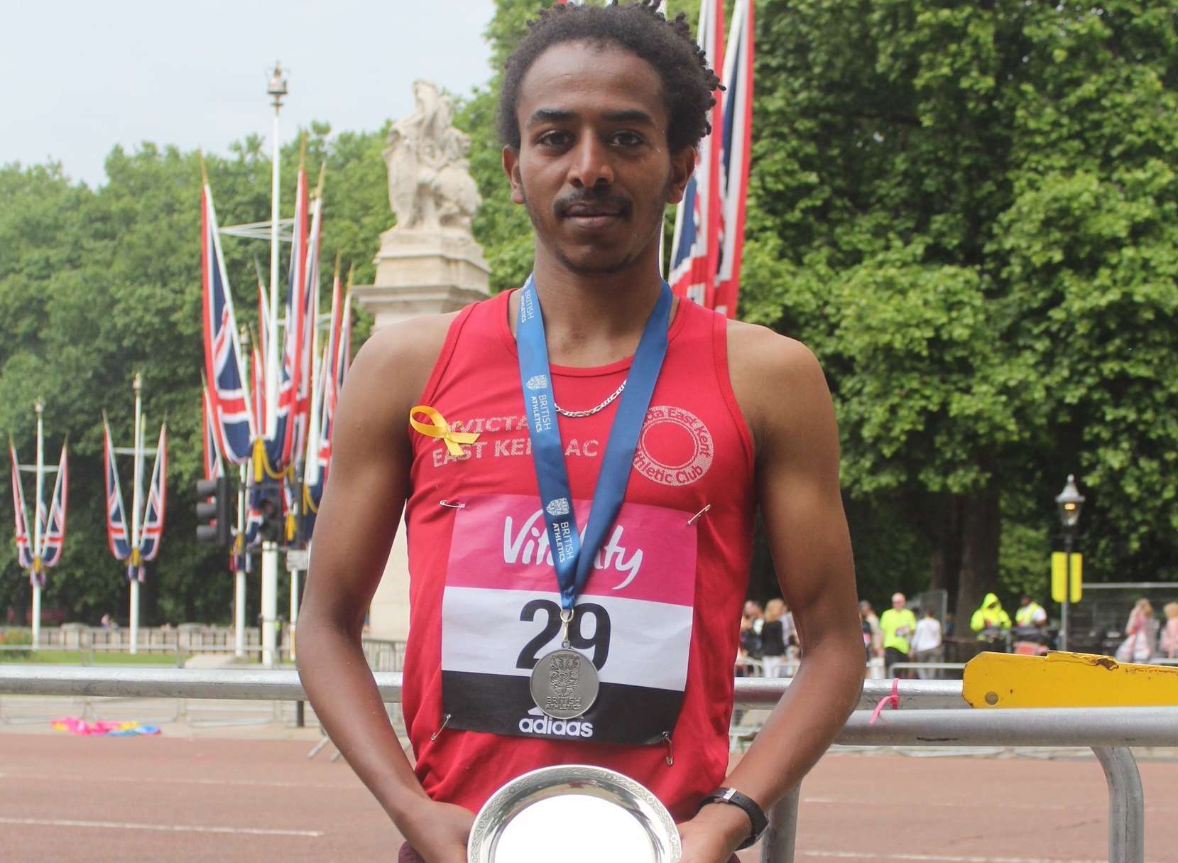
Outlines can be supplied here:
<path id="1" fill-rule="evenodd" d="M 485 495 L 455 510 L 442 600 L 442 703 L 449 726 L 497 734 L 651 744 L 687 685 L 695 600 L 690 513 L 623 503 L 577 598 L 569 644 L 601 689 L 576 719 L 531 700 L 537 660 L 561 646 L 561 600 L 536 498 Z M 575 501 L 584 529 L 589 501 Z"/>

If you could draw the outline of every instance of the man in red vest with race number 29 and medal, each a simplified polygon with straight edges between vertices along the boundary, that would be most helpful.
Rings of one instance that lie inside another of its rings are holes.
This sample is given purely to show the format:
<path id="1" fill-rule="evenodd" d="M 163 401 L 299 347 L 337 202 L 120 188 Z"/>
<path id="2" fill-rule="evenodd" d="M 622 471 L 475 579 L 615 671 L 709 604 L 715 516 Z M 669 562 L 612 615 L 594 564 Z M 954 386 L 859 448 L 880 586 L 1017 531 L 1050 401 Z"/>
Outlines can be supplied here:
<path id="1" fill-rule="evenodd" d="M 663 210 L 683 196 L 716 85 L 687 26 L 654 5 L 542 13 L 499 110 L 532 278 L 375 335 L 349 373 L 299 668 L 408 841 L 402 861 L 464 862 L 472 811 L 498 786 L 590 763 L 667 804 L 683 863 L 726 863 L 858 699 L 822 371 L 792 340 L 673 303 L 659 276 Z M 726 777 L 757 505 L 806 658 Z M 413 768 L 359 638 L 403 507 Z M 598 693 L 555 692 L 560 663 Z M 704 804 L 721 785 L 736 793 Z"/>

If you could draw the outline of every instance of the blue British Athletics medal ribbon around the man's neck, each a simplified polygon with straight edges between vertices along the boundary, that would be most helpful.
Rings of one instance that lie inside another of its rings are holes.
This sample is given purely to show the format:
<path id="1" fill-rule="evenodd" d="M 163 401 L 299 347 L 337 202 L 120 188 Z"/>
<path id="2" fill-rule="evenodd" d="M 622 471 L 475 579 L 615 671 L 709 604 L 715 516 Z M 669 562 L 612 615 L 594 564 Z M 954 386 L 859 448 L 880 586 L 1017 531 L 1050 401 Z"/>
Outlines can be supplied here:
<path id="1" fill-rule="evenodd" d="M 597 551 L 622 507 L 634 463 L 634 448 L 638 443 L 638 433 L 650 407 L 655 381 L 659 380 L 659 370 L 667 355 L 670 301 L 670 288 L 663 282 L 659 301 L 642 330 L 638 349 L 634 353 L 626 390 L 609 431 L 582 540 L 573 512 L 573 492 L 569 488 L 561 429 L 556 420 L 552 376 L 548 367 L 548 340 L 535 276 L 529 276 L 519 291 L 519 310 L 516 316 L 519 384 L 528 414 L 531 457 L 536 465 L 544 523 L 556 567 L 556 582 L 561 588 L 561 607 L 565 612 L 571 612 L 577 595 L 589 580 Z"/>

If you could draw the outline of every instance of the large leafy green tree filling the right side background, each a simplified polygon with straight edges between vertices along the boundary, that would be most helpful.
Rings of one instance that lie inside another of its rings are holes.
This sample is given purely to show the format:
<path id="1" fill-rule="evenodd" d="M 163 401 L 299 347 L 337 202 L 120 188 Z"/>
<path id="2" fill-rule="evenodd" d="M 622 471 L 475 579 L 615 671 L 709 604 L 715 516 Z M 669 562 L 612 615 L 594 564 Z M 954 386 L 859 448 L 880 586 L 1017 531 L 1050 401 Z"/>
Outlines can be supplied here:
<path id="1" fill-rule="evenodd" d="M 1045 539 L 1026 501 L 1073 466 L 1099 490 L 1093 568 L 1157 577 L 1178 518 L 1172 5 L 760 13 L 742 309 L 823 360 L 848 490 L 902 493 L 959 613 L 999 584 L 1004 496 Z"/>

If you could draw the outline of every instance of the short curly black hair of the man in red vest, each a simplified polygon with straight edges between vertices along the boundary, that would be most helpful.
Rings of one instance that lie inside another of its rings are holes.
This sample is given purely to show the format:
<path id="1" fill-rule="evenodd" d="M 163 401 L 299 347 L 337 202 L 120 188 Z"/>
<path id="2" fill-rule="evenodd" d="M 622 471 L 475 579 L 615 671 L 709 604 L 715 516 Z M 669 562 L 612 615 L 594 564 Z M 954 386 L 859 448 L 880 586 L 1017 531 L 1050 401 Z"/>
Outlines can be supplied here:
<path id="1" fill-rule="evenodd" d="M 508 58 L 499 91 L 497 126 L 503 144 L 519 147 L 519 119 L 516 104 L 519 85 L 536 59 L 554 45 L 590 41 L 616 45 L 642 58 L 659 73 L 670 123 L 667 146 L 679 152 L 696 146 L 712 132 L 708 112 L 716 104 L 713 92 L 722 90 L 716 73 L 708 67 L 703 50 L 691 38 L 687 18 L 679 13 L 668 21 L 661 0 L 637 0 L 609 6 L 556 5 L 528 21 L 528 33 Z"/>

